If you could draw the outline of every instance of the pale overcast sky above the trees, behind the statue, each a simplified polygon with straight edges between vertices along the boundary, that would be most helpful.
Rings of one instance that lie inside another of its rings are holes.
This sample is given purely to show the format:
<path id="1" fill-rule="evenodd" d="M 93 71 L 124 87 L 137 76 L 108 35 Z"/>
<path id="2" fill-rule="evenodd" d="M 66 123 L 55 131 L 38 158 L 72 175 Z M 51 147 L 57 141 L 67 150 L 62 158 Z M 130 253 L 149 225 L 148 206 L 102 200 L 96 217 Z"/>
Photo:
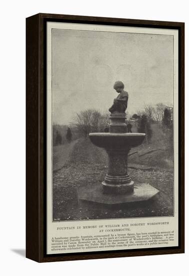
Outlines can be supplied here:
<path id="1" fill-rule="evenodd" d="M 52 30 L 53 122 L 68 124 L 87 108 L 107 110 L 117 93 L 128 92 L 127 111 L 144 103 L 173 103 L 173 37 Z"/>

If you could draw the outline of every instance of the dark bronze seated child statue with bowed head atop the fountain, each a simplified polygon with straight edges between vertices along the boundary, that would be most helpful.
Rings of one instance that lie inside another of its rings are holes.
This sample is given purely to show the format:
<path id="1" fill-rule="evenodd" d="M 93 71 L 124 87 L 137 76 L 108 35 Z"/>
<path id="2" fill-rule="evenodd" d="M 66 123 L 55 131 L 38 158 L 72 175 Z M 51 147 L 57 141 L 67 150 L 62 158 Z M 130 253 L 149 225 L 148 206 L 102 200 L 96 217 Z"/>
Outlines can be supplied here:
<path id="1" fill-rule="evenodd" d="M 122 81 L 116 81 L 113 88 L 118 94 L 118 96 L 113 100 L 113 105 L 109 108 L 109 112 L 124 113 L 127 108 L 128 93 L 124 91 L 124 84 Z"/>

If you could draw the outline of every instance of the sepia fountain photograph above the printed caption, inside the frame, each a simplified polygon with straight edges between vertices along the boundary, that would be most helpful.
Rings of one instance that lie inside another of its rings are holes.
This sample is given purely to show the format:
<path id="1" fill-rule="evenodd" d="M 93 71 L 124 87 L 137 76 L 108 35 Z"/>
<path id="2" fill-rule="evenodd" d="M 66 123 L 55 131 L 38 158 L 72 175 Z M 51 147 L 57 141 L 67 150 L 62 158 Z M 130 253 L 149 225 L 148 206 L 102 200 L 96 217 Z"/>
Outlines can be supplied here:
<path id="1" fill-rule="evenodd" d="M 51 29 L 52 221 L 174 216 L 174 36 L 115 28 Z"/>

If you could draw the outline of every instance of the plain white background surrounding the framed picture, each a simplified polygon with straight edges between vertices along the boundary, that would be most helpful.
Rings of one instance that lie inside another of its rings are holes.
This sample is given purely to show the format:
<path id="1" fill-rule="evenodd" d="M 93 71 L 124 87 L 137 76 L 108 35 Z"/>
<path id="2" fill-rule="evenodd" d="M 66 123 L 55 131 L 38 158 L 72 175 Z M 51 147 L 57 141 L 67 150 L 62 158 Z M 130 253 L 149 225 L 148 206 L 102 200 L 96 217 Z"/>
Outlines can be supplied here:
<path id="1" fill-rule="evenodd" d="M 39 12 L 185 22 L 185 106 L 188 102 L 188 1 L 4 1 L 0 29 L 0 270 L 1 275 L 186 275 L 188 270 L 188 173 L 186 253 L 38 264 L 25 247 L 25 18 Z M 186 141 L 189 112 L 186 108 Z M 188 164 L 185 145 L 185 164 Z M 17 252 L 17 253 L 16 253 Z"/>

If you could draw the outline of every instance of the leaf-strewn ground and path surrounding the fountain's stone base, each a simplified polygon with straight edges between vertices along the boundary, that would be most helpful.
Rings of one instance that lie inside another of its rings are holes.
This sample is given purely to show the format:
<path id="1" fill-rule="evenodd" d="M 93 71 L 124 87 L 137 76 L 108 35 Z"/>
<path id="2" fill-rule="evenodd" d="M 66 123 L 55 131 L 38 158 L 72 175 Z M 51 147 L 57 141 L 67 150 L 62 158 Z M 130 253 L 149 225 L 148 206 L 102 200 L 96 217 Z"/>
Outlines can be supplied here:
<path id="1" fill-rule="evenodd" d="M 109 210 L 107 207 L 79 207 L 76 190 L 80 186 L 101 183 L 107 172 L 107 155 L 89 140 L 78 140 L 63 168 L 53 173 L 53 217 L 55 220 L 82 220 L 172 216 L 173 178 L 167 170 L 129 169 L 136 183 L 149 183 L 160 192 L 154 201 L 145 205 L 133 205 Z"/>

